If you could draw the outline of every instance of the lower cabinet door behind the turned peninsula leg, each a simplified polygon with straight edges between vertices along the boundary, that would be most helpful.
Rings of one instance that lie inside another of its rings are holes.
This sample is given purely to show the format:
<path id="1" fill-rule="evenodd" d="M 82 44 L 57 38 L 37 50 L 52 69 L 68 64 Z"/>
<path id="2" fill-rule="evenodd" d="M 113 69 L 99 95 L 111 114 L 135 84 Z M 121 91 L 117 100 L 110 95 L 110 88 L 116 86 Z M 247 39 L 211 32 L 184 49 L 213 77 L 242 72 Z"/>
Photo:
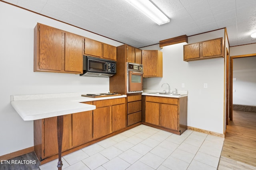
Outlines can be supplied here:
<path id="1" fill-rule="evenodd" d="M 72 147 L 72 114 L 63 116 L 62 151 Z M 57 117 L 44 119 L 44 156 L 58 154 Z"/>

